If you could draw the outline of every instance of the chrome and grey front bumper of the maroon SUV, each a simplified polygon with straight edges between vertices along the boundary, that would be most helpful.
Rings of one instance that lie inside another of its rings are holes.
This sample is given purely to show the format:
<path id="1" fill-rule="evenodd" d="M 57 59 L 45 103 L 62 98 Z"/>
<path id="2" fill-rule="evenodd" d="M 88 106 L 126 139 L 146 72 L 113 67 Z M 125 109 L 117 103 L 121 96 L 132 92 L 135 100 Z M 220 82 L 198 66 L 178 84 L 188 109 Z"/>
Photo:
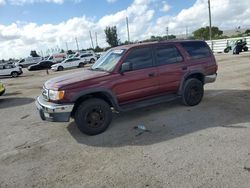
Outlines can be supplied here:
<path id="1" fill-rule="evenodd" d="M 70 119 L 74 104 L 56 104 L 47 102 L 40 95 L 36 100 L 36 107 L 42 120 L 53 122 L 67 122 Z"/>

